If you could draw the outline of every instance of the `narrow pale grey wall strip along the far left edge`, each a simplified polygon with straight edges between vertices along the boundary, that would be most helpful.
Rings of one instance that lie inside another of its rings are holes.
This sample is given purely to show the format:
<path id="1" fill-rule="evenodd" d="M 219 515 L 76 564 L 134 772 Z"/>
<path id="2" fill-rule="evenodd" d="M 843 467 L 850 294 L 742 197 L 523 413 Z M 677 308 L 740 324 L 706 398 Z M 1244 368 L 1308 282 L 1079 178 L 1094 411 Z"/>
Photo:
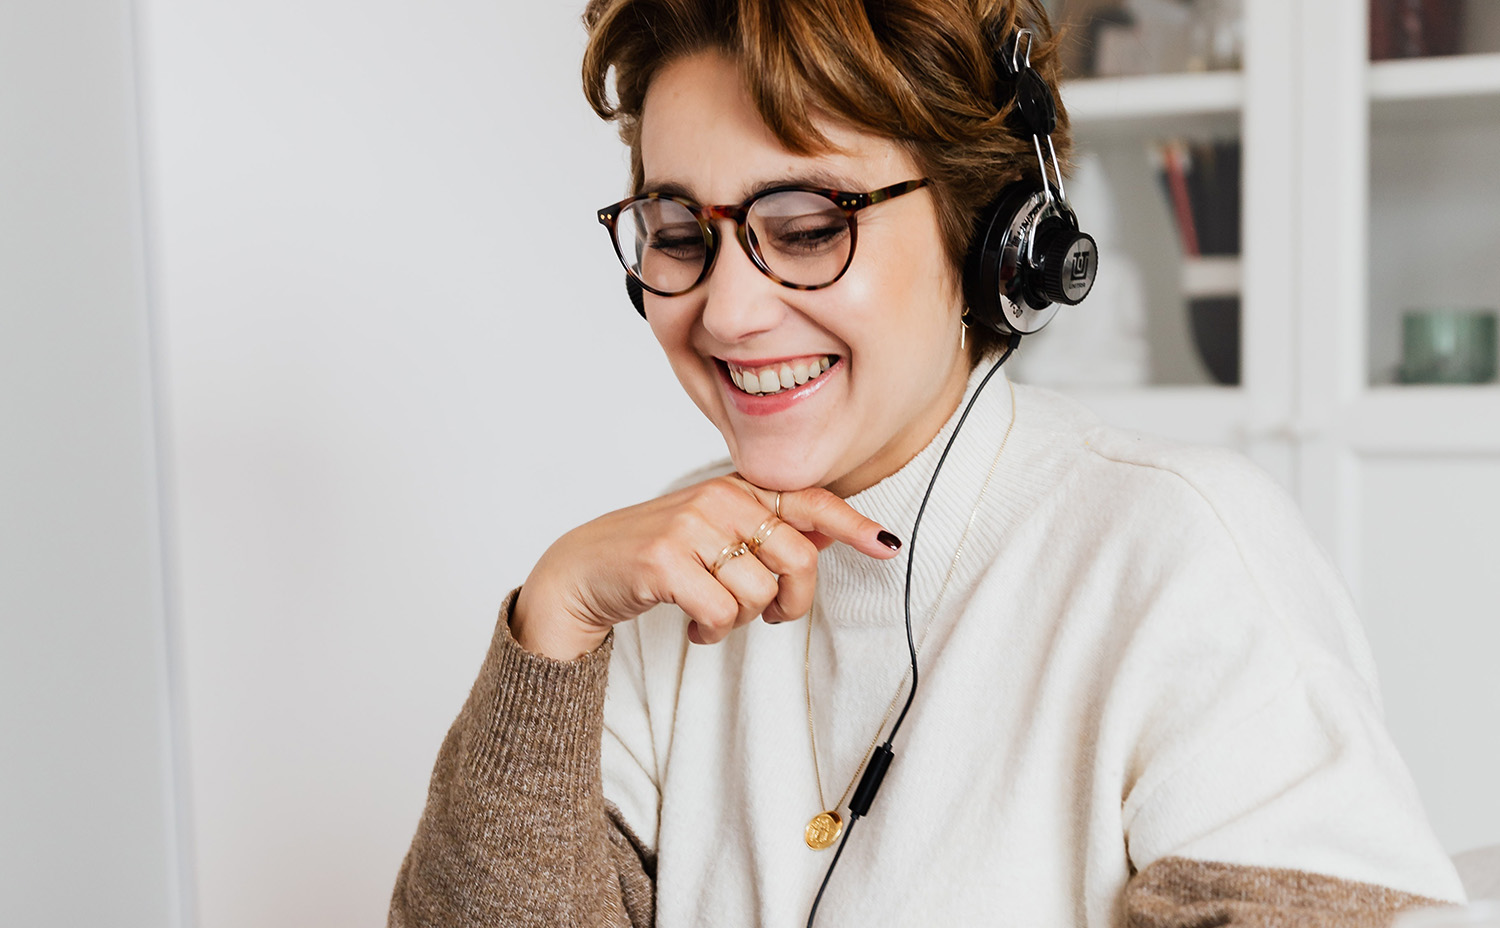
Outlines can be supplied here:
<path id="1" fill-rule="evenodd" d="M 180 924 L 130 4 L 0 3 L 0 921 Z"/>

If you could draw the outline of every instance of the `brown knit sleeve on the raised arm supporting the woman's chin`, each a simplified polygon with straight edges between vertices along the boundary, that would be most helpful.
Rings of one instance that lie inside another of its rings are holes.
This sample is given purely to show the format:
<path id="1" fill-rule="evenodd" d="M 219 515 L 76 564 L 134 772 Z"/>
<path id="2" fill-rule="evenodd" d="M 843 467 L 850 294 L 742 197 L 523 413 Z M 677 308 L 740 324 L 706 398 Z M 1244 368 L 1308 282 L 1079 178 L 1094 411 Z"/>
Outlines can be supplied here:
<path id="1" fill-rule="evenodd" d="M 614 636 L 576 661 L 531 654 L 514 597 L 438 753 L 388 927 L 650 927 L 656 859 L 600 787 Z"/>

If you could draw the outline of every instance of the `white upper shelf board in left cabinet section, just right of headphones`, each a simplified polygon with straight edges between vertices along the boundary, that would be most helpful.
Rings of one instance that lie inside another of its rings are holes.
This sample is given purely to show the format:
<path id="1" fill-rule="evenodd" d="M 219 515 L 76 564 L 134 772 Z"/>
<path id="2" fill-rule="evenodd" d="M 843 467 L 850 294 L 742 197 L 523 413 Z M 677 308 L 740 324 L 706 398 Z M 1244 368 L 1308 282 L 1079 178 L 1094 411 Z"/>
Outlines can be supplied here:
<path id="1" fill-rule="evenodd" d="M 1090 78 L 1062 85 L 1076 133 L 1226 135 L 1239 130 L 1245 78 L 1234 70 Z"/>

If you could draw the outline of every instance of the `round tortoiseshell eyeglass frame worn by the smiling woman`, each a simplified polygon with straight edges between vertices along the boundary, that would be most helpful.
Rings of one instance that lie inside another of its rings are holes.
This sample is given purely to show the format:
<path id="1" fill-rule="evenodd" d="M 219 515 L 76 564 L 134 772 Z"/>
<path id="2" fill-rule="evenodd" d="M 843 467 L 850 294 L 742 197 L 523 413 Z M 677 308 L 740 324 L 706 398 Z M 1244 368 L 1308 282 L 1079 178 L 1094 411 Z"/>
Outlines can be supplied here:
<path id="1" fill-rule="evenodd" d="M 630 276 L 630 279 L 639 283 L 642 289 L 651 291 L 658 297 L 680 297 L 708 279 L 708 273 L 714 270 L 714 262 L 718 259 L 720 238 L 718 232 L 714 229 L 716 219 L 729 219 L 735 223 L 735 238 L 740 240 L 740 247 L 750 258 L 750 262 L 756 265 L 756 270 L 759 270 L 771 280 L 776 280 L 777 283 L 789 289 L 804 289 L 804 291 L 824 289 L 825 286 L 832 286 L 834 283 L 838 283 L 838 280 L 849 270 L 849 265 L 854 264 L 854 250 L 855 246 L 860 243 L 860 223 L 855 220 L 855 213 L 858 213 L 866 207 L 873 207 L 878 202 L 885 202 L 888 199 L 896 199 L 897 196 L 910 193 L 912 190 L 920 190 L 921 187 L 928 186 L 928 183 L 930 183 L 928 178 L 920 177 L 916 180 L 903 180 L 900 183 L 888 184 L 878 190 L 868 190 L 864 193 L 855 193 L 849 190 L 831 190 L 828 187 L 813 187 L 804 184 L 778 184 L 774 187 L 766 187 L 765 190 L 758 190 L 750 196 L 747 196 L 740 204 L 706 205 L 706 207 L 699 205 L 698 202 L 688 199 L 687 196 L 678 196 L 675 193 L 662 193 L 652 190 L 646 193 L 636 193 L 634 196 L 627 196 L 620 202 L 600 208 L 598 223 L 606 229 L 609 229 L 609 241 L 615 247 L 615 256 L 620 259 L 620 264 L 626 268 L 626 273 Z M 747 232 L 748 226 L 746 225 L 747 219 L 750 217 L 750 207 L 753 207 L 758 199 L 771 196 L 772 193 L 816 193 L 831 201 L 844 214 L 844 222 L 849 225 L 849 255 L 844 258 L 843 267 L 838 268 L 838 273 L 834 274 L 832 280 L 828 280 L 826 283 L 792 283 L 790 280 L 784 280 L 778 277 L 776 271 L 772 271 L 766 265 L 759 250 L 750 244 L 750 235 Z M 630 270 L 630 261 L 627 261 L 626 256 L 620 252 L 620 235 L 616 232 L 615 222 L 620 219 L 620 214 L 626 210 L 626 207 L 634 202 L 640 202 L 644 199 L 669 199 L 684 207 L 688 213 L 693 214 L 693 219 L 698 220 L 698 228 L 704 232 L 704 243 L 705 247 L 708 249 L 708 253 L 704 258 L 704 270 L 699 271 L 696 280 L 693 280 L 680 291 L 666 292 L 651 286 L 650 283 L 642 280 L 636 271 Z"/>

